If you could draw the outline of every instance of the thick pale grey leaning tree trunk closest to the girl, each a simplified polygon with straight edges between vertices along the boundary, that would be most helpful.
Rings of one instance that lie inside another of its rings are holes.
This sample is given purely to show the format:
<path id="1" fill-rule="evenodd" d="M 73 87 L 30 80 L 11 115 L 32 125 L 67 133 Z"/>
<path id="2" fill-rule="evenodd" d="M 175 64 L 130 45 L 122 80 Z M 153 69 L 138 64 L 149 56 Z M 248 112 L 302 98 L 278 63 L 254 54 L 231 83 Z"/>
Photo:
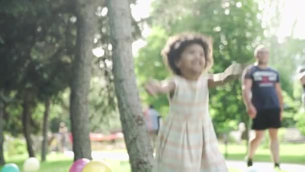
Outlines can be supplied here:
<path id="1" fill-rule="evenodd" d="M 108 0 L 113 74 L 120 120 L 132 171 L 150 171 L 152 147 L 142 118 L 131 52 L 131 16 L 127 0 Z"/>

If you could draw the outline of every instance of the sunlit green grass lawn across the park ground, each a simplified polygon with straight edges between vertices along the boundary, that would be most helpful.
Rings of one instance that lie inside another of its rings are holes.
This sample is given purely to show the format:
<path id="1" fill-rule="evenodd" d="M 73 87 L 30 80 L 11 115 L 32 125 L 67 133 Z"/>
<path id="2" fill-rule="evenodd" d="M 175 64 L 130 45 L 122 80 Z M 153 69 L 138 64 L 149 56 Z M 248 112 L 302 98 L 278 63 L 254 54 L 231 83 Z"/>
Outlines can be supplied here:
<path id="1" fill-rule="evenodd" d="M 299 163 L 305 164 L 305 144 L 282 144 L 281 149 L 281 162 L 285 163 Z M 220 150 L 224 153 L 224 145 L 220 145 Z M 113 150 L 112 152 L 126 152 L 126 150 Z M 244 160 L 245 157 L 245 146 L 244 145 L 228 145 L 228 157 L 230 160 Z M 13 157 L 6 157 L 7 162 L 16 163 L 21 171 L 24 160 L 27 155 L 16 155 Z M 67 172 L 72 163 L 72 159 L 60 154 L 53 153 L 47 156 L 47 162 L 41 163 L 40 172 Z M 270 161 L 270 151 L 268 148 L 260 146 L 254 157 L 255 161 Z M 110 164 L 111 165 L 111 164 Z M 130 171 L 130 166 L 128 161 L 121 161 L 120 165 L 118 163 L 112 165 L 113 172 L 128 172 Z M 2 166 L 0 166 L 0 169 Z M 239 172 L 239 169 L 229 169 L 230 172 Z"/>

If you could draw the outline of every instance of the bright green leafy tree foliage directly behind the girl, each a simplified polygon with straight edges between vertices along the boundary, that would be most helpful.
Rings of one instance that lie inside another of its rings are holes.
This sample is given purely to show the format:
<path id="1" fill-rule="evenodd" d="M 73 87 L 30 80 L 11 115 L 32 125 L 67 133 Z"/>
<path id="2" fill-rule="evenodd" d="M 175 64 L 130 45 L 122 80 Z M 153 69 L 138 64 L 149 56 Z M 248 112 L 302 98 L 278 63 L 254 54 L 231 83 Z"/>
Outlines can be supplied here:
<path id="1" fill-rule="evenodd" d="M 149 77 L 169 77 L 160 52 L 169 35 L 183 31 L 200 32 L 213 38 L 214 73 L 222 72 L 235 61 L 254 61 L 253 49 L 264 38 L 261 21 L 257 18 L 260 11 L 255 2 L 179 1 L 174 4 L 169 1 L 156 1 L 154 4 L 151 17 L 153 33 L 135 58 L 139 84 Z M 161 18 L 163 21 L 159 20 Z M 166 97 L 156 100 L 143 92 L 140 90 L 142 101 L 154 104 L 159 111 L 167 113 Z M 210 90 L 210 113 L 218 133 L 236 129 L 239 122 L 248 121 L 239 80 Z"/>

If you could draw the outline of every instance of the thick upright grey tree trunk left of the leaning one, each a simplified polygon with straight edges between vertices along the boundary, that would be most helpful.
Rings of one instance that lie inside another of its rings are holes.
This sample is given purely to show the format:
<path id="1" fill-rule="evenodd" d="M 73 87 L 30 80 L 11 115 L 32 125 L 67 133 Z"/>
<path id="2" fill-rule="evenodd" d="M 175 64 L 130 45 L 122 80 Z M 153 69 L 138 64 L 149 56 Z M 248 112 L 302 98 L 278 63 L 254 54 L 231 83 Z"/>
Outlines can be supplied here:
<path id="1" fill-rule="evenodd" d="M 76 54 L 70 96 L 70 116 L 73 135 L 74 160 L 91 159 L 89 139 L 88 93 L 91 78 L 91 61 L 94 28 L 97 27 L 93 1 L 75 0 L 77 16 Z"/>

